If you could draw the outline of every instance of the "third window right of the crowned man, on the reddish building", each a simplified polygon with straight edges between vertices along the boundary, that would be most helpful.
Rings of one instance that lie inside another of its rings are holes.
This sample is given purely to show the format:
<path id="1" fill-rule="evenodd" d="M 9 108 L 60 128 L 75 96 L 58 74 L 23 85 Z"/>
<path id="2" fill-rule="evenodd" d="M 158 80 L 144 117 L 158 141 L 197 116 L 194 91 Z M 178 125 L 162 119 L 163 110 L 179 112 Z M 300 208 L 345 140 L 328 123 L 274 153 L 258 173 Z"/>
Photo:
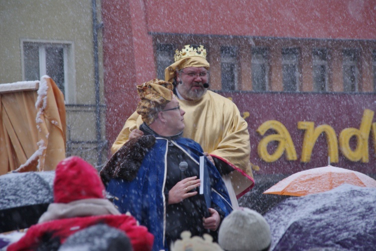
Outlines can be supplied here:
<path id="1" fill-rule="evenodd" d="M 299 49 L 282 49 L 282 83 L 284 91 L 299 90 Z"/>

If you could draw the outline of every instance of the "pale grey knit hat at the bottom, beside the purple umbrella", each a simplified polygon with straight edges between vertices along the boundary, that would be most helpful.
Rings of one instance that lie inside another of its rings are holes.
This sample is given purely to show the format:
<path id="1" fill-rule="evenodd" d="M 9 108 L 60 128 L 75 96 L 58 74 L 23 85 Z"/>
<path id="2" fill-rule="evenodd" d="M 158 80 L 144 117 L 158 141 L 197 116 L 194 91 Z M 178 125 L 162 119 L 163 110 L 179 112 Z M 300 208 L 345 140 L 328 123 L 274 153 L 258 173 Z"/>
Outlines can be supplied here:
<path id="1" fill-rule="evenodd" d="M 260 251 L 270 247 L 270 226 L 255 210 L 240 207 L 222 221 L 218 243 L 228 251 Z"/>

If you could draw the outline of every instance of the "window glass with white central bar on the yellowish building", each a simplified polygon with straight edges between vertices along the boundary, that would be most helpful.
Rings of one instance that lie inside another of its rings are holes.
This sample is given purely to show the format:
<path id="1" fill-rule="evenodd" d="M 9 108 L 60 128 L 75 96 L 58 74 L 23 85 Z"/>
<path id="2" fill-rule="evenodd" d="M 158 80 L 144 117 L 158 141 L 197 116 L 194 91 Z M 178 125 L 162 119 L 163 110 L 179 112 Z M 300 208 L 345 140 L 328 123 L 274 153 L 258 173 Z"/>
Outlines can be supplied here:
<path id="1" fill-rule="evenodd" d="M 23 70 L 25 80 L 38 80 L 50 76 L 64 94 L 68 95 L 68 69 L 70 44 L 23 41 Z"/>

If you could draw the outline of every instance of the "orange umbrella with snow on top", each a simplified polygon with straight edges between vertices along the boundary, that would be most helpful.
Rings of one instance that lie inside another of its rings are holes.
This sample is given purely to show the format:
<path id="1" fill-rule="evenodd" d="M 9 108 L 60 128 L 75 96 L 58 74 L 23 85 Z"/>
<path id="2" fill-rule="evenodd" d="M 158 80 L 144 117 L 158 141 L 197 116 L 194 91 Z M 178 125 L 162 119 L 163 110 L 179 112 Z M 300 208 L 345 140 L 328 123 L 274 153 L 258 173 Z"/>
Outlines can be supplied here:
<path id="1" fill-rule="evenodd" d="M 328 191 L 343 183 L 376 187 L 376 180 L 364 173 L 328 165 L 296 172 L 263 193 L 303 196 Z"/>

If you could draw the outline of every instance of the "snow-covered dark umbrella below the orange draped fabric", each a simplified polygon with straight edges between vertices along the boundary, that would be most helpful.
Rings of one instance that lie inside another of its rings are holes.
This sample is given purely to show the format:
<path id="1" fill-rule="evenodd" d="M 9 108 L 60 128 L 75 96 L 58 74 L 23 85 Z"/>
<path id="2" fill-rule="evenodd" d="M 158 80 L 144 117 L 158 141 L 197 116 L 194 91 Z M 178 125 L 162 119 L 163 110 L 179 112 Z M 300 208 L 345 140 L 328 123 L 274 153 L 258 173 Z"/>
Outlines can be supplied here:
<path id="1" fill-rule="evenodd" d="M 53 202 L 55 171 L 13 172 L 0 175 L 0 232 L 38 222 Z"/>

